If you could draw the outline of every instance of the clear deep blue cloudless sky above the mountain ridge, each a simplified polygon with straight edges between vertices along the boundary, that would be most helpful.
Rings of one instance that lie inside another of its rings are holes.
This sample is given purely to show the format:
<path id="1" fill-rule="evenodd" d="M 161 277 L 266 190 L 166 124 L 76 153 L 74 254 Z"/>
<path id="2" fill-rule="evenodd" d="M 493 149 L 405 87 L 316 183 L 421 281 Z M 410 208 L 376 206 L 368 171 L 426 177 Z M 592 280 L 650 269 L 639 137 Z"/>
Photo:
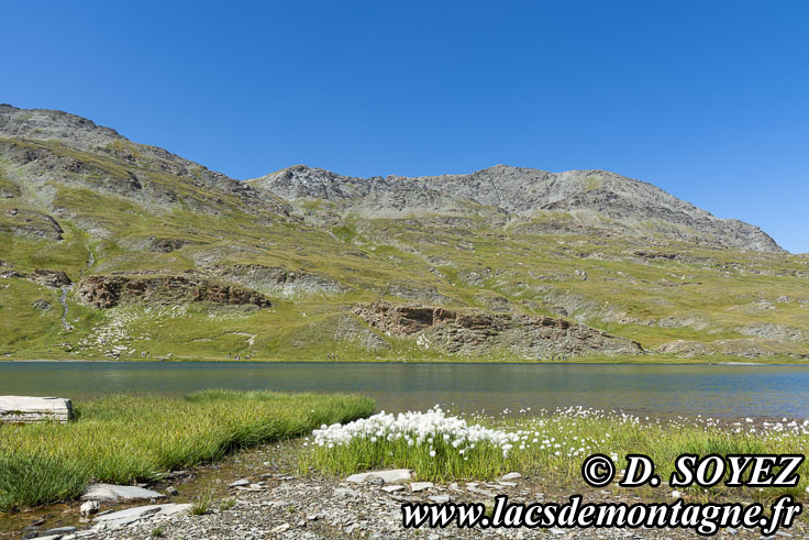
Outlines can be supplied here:
<path id="1" fill-rule="evenodd" d="M 5 1 L 0 102 L 235 178 L 603 168 L 809 252 L 809 2 Z"/>

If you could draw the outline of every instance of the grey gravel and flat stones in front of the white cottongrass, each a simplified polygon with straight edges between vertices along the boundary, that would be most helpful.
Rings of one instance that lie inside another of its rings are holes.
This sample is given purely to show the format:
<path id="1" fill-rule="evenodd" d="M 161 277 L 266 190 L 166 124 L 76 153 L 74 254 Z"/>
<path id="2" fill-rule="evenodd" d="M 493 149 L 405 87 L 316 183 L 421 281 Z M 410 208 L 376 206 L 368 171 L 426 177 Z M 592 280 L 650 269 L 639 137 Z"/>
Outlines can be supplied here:
<path id="1" fill-rule="evenodd" d="M 388 482 L 386 482 L 386 480 Z M 352 482 L 354 481 L 354 482 Z M 496 482 L 461 482 L 444 485 L 414 482 L 408 475 L 388 477 L 383 473 L 355 475 L 346 480 L 296 477 L 264 474 L 239 478 L 230 484 L 229 495 L 199 503 L 166 502 L 101 513 L 85 527 L 43 530 L 53 540 L 132 539 L 132 538 L 210 538 L 210 539 L 320 539 L 320 538 L 695 538 L 690 530 L 654 529 L 404 529 L 403 503 L 484 503 L 490 507 L 495 496 L 508 495 L 510 502 L 566 502 L 575 492 L 585 500 L 633 504 L 632 492 L 586 488 L 541 491 L 531 478 L 510 474 Z M 169 489 L 170 492 L 170 489 Z M 168 499 L 170 500 L 170 499 Z M 200 515 L 192 513 L 196 507 Z M 202 511 L 204 510 L 204 511 Z M 809 527 L 801 521 L 783 538 L 805 537 Z M 34 536 L 29 532 L 29 538 Z M 757 530 L 724 529 L 718 538 L 761 538 Z"/>

